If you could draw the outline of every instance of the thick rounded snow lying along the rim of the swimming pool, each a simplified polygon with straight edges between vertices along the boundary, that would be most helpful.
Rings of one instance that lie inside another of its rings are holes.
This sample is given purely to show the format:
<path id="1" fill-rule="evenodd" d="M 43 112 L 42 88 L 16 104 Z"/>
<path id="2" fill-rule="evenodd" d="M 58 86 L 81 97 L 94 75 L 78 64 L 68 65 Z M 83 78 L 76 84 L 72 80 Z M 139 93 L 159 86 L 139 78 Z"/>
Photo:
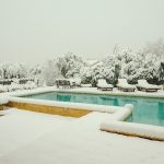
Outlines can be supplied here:
<path id="1" fill-rule="evenodd" d="M 40 104 L 40 105 L 49 105 L 49 106 L 59 106 L 59 107 L 68 107 L 68 108 L 74 108 L 74 109 L 87 109 L 87 110 L 92 110 L 92 112 L 101 112 L 101 113 L 108 113 L 108 114 L 115 114 L 113 115 L 112 119 L 110 120 L 114 120 L 113 124 L 115 124 L 115 121 L 120 121 L 120 120 L 125 120 L 132 112 L 132 108 L 133 106 L 132 105 L 126 105 L 125 107 L 119 107 L 119 106 L 104 106 L 104 105 L 93 105 L 93 104 L 82 104 L 82 103 L 71 103 L 71 102 L 56 102 L 56 101 L 45 101 L 45 99 L 33 99 L 33 98 L 24 98 L 24 97 L 14 97 L 14 95 L 27 95 L 27 94 L 32 94 L 32 93 L 43 93 L 43 92 L 49 92 L 49 91 L 61 91 L 61 90 L 57 90 L 55 87 L 47 87 L 47 89 L 37 89 L 37 90 L 34 90 L 33 92 L 23 92 L 23 93 L 13 93 L 12 96 L 9 96 L 9 101 L 12 101 L 12 102 L 20 102 L 20 103 L 31 103 L 31 104 Z M 72 92 L 72 93 L 92 93 L 92 94 L 104 94 L 104 92 L 99 92 L 95 89 L 73 89 L 73 90 L 62 90 L 62 92 Z M 105 94 L 108 94 L 108 95 L 127 95 L 126 93 L 121 93 L 121 92 L 114 92 L 114 93 L 110 93 L 110 92 L 105 92 Z M 134 95 L 133 93 L 128 93 L 129 95 Z M 164 94 L 161 93 L 163 96 Z M 152 96 L 159 96 L 157 93 L 155 94 L 143 94 L 143 93 L 139 93 L 138 95 L 142 96 L 142 95 L 152 95 Z M 160 95 L 161 96 L 161 95 Z M 103 121 L 105 122 L 105 121 Z M 119 128 L 121 129 L 121 126 L 122 127 L 126 127 L 127 122 L 118 122 L 119 124 Z M 102 124 L 104 125 L 104 124 Z M 103 129 L 101 125 L 101 128 Z M 105 122 L 105 128 L 104 130 L 108 130 L 107 129 L 107 126 L 110 128 L 110 122 L 108 124 L 108 121 Z M 117 124 L 116 124 L 116 127 L 117 127 Z M 128 127 L 128 126 L 127 126 Z M 144 125 L 140 125 L 140 124 L 134 124 L 132 122 L 130 125 L 131 127 L 131 131 L 130 131 L 130 128 L 128 128 L 128 131 L 127 129 L 122 128 L 121 130 L 126 133 L 136 133 L 137 136 L 143 136 L 143 137 L 151 137 L 151 138 L 162 138 L 159 133 L 161 133 L 161 130 L 159 130 L 156 127 L 152 128 L 152 126 L 147 126 L 147 128 L 140 128 L 140 127 L 144 127 Z M 113 128 L 113 127 L 112 127 Z M 142 130 L 140 130 L 142 129 Z M 145 130 L 148 129 L 148 130 Z M 154 130 L 155 129 L 155 130 Z M 144 131 L 145 130 L 145 131 Z M 116 131 L 117 131 L 117 128 L 116 128 Z M 156 132 L 157 131 L 157 132 Z M 144 132 L 147 134 L 144 134 Z M 152 136 L 153 133 L 153 136 Z M 163 136 L 164 138 L 164 136 Z"/>

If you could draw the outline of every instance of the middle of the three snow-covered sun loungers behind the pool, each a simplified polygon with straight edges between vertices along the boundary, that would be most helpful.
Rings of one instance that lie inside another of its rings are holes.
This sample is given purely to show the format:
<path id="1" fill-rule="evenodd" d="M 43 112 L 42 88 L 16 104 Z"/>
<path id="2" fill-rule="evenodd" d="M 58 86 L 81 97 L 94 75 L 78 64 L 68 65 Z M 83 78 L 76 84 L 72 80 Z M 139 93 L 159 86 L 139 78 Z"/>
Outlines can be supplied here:
<path id="1" fill-rule="evenodd" d="M 136 90 L 134 85 L 128 84 L 127 79 L 118 79 L 117 87 L 124 92 L 134 92 Z"/>

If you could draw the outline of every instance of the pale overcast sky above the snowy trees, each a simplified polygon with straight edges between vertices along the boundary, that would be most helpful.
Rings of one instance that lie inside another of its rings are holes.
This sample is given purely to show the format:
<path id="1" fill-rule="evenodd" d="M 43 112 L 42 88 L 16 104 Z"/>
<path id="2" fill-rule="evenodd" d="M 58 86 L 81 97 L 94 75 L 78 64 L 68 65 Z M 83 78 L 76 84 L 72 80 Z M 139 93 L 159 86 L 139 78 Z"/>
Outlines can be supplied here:
<path id="1" fill-rule="evenodd" d="M 164 37 L 164 0 L 0 0 L 0 62 L 73 51 L 102 58 L 115 44 Z"/>

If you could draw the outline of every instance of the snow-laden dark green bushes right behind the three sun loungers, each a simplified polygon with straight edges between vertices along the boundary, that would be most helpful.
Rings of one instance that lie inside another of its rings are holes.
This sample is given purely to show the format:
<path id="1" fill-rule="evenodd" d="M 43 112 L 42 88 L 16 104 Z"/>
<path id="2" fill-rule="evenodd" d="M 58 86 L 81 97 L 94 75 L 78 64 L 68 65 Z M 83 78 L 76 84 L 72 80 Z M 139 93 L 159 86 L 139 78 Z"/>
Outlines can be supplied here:
<path id="1" fill-rule="evenodd" d="M 125 78 L 130 83 L 137 83 L 139 79 L 145 79 L 150 83 L 164 82 L 164 55 L 144 50 L 134 51 L 130 48 L 116 46 L 112 55 L 99 65 L 84 67 L 81 70 L 83 82 L 92 82 L 95 85 L 97 79 L 106 79 L 116 84 L 118 78 Z"/>

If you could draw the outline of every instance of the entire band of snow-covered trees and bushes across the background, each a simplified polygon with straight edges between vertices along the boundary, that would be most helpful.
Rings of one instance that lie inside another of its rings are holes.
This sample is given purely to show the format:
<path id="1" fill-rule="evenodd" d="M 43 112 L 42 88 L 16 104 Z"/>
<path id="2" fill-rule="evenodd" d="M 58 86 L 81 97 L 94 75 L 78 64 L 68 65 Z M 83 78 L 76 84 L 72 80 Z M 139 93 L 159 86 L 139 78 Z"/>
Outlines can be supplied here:
<path id="1" fill-rule="evenodd" d="M 149 44 L 139 51 L 116 46 L 113 54 L 94 65 L 72 52 L 33 67 L 10 62 L 0 65 L 0 79 L 23 78 L 34 79 L 37 86 L 54 85 L 60 78 L 80 78 L 83 84 L 92 83 L 93 86 L 102 78 L 112 84 L 116 84 L 118 78 L 133 84 L 139 79 L 160 84 L 164 82 L 164 43 Z"/>

